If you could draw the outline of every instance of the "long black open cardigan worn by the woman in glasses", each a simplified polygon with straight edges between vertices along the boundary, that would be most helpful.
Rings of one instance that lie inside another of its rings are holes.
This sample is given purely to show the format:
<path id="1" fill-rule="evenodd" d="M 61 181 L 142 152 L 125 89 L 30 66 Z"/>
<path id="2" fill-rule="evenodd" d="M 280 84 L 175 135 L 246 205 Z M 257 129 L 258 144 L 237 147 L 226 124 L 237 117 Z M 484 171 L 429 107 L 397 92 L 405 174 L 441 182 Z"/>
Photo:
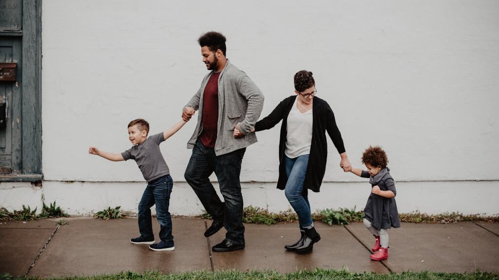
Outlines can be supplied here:
<path id="1" fill-rule="evenodd" d="M 294 104 L 296 96 L 290 96 L 282 100 L 277 107 L 267 117 L 261 119 L 255 124 L 255 131 L 268 130 L 273 128 L 282 120 L 280 140 L 279 140 L 279 179 L 277 188 L 283 190 L 286 186 L 287 176 L 284 169 L 284 149 L 286 148 L 287 136 L 287 117 Z M 326 172 L 327 160 L 327 141 L 326 134 L 329 134 L 333 140 L 338 153 L 345 152 L 343 139 L 334 120 L 333 110 L 326 101 L 314 97 L 312 109 L 312 142 L 310 146 L 310 155 L 308 157 L 307 172 L 305 174 L 303 191 L 311 189 L 318 192 L 322 184 L 322 178 Z"/>

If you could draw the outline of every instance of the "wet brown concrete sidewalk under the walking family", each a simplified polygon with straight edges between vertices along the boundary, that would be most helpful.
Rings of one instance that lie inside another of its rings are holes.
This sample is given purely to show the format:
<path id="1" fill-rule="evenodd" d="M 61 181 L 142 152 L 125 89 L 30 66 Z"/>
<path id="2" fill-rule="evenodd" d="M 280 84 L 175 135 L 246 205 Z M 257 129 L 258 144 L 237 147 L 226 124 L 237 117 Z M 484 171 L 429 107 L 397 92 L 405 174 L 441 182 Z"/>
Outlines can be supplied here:
<path id="1" fill-rule="evenodd" d="M 66 220 L 68 224 L 58 228 L 56 220 L 1 222 L 0 274 L 65 277 L 125 270 L 169 273 L 225 269 L 286 273 L 315 268 L 376 273 L 499 272 L 499 224 L 403 223 L 389 231 L 390 258 L 374 262 L 368 249 L 374 239 L 362 223 L 344 227 L 316 223 L 322 239 L 313 252 L 298 255 L 284 250 L 285 244 L 299 238 L 297 223 L 247 224 L 245 250 L 216 253 L 211 246 L 223 240 L 225 230 L 205 238 L 209 220 L 173 218 L 172 252 L 154 252 L 147 245 L 131 244 L 130 238 L 139 235 L 137 219 Z M 159 225 L 153 221 L 153 226 L 157 238 Z"/>

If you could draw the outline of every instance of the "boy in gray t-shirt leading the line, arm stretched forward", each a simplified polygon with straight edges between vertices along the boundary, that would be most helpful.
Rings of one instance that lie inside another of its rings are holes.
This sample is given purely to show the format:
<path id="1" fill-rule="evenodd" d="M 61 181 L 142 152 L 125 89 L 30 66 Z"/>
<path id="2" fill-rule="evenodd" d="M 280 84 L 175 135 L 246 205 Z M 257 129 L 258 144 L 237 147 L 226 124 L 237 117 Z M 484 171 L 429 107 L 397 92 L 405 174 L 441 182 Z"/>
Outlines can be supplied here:
<path id="1" fill-rule="evenodd" d="M 128 139 L 133 146 L 120 153 L 111 153 L 90 147 L 88 153 L 97 154 L 112 161 L 134 159 L 147 181 L 142 199 L 139 203 L 139 231 L 140 236 L 130 240 L 133 244 L 148 244 L 153 251 L 175 250 L 172 236 L 172 217 L 168 212 L 170 193 L 173 180 L 168 165 L 161 154 L 159 144 L 167 140 L 184 125 L 180 121 L 170 129 L 152 135 L 149 134 L 149 124 L 143 119 L 131 121 L 128 124 Z M 154 234 L 151 224 L 151 207 L 156 204 L 156 218 L 161 225 L 159 237 L 161 242 L 154 244 Z"/>

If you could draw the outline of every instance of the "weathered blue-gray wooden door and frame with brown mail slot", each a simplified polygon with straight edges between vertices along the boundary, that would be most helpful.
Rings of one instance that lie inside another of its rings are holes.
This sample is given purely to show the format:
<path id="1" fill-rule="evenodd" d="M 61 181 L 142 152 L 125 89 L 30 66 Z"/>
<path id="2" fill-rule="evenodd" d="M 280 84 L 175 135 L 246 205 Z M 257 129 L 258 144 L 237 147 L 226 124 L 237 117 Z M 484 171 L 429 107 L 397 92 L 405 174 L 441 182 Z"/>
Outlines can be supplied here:
<path id="1" fill-rule="evenodd" d="M 41 0 L 0 0 L 2 67 L 0 181 L 40 181 Z"/>

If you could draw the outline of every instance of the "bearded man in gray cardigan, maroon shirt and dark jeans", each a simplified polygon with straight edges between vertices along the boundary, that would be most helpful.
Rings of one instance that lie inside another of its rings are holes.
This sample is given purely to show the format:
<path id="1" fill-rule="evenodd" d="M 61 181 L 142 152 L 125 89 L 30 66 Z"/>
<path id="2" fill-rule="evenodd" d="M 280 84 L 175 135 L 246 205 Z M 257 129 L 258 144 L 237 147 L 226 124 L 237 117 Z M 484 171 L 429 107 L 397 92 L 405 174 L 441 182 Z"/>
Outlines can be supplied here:
<path id="1" fill-rule="evenodd" d="M 182 112 L 182 119 L 188 121 L 199 110 L 196 130 L 187 144 L 193 151 L 185 178 L 213 217 L 205 236 L 222 227 L 227 230 L 226 238 L 213 251 L 230 252 L 245 248 L 239 175 L 246 147 L 256 142 L 250 130 L 260 116 L 263 95 L 246 73 L 227 59 L 224 35 L 208 32 L 198 42 L 203 62 L 211 71 Z M 233 136 L 236 125 L 242 133 L 237 138 Z M 213 172 L 224 202 L 208 178 Z"/>

